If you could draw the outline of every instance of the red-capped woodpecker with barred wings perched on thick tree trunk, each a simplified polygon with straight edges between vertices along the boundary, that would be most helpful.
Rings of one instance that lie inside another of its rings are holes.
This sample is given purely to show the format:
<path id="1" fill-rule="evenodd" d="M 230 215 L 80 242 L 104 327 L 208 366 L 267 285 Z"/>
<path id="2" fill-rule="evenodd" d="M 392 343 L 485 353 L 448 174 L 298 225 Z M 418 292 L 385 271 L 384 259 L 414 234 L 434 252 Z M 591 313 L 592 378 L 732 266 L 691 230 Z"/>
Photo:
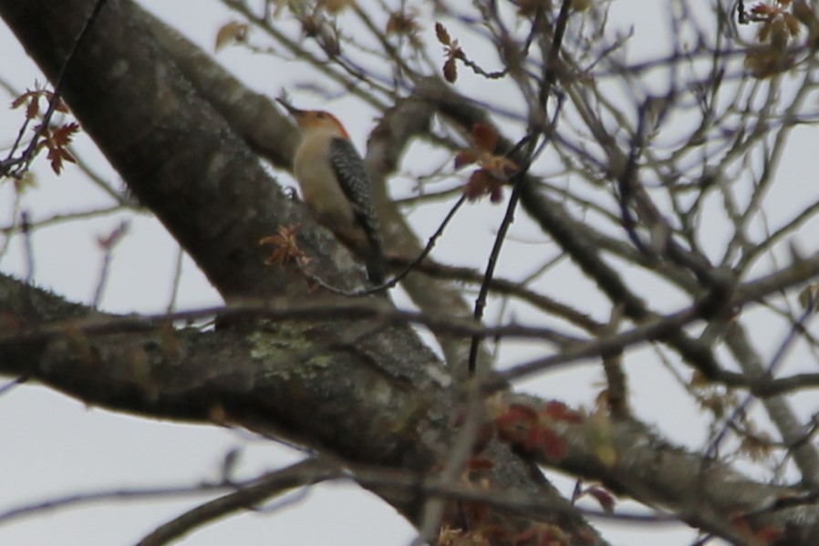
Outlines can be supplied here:
<path id="1" fill-rule="evenodd" d="M 370 283 L 384 283 L 384 253 L 372 189 L 347 130 L 328 112 L 300 110 L 278 100 L 301 129 L 293 172 L 307 207 L 364 261 Z"/>

